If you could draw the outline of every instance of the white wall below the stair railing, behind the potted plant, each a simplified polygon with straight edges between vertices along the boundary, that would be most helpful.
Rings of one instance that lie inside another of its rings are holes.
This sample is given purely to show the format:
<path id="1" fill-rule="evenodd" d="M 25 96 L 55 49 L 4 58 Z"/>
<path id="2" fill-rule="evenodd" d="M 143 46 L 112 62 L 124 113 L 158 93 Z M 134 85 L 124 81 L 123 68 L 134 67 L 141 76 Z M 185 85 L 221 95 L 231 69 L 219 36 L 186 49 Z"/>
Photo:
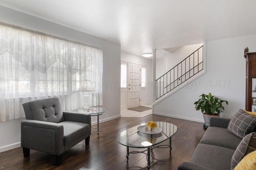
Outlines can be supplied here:
<path id="1" fill-rule="evenodd" d="M 194 102 L 204 93 L 212 93 L 224 104 L 227 118 L 245 108 L 246 61 L 244 48 L 256 51 L 256 35 L 207 42 L 207 73 L 153 106 L 154 114 L 204 122 L 202 113 L 194 109 Z"/>

